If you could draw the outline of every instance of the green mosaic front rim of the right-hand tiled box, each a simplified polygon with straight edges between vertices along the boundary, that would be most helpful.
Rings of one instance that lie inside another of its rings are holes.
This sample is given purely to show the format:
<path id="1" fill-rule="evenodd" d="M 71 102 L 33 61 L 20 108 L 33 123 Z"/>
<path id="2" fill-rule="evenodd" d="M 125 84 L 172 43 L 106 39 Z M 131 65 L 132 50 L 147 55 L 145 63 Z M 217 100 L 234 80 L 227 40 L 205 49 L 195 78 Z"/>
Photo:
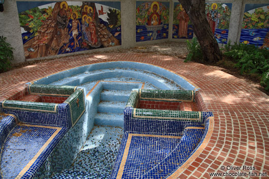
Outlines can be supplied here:
<path id="1" fill-rule="evenodd" d="M 151 110 L 135 109 L 132 112 L 132 118 L 139 119 L 164 119 L 164 120 L 195 120 L 202 121 L 201 112 L 195 111 L 172 111 L 172 110 Z"/>

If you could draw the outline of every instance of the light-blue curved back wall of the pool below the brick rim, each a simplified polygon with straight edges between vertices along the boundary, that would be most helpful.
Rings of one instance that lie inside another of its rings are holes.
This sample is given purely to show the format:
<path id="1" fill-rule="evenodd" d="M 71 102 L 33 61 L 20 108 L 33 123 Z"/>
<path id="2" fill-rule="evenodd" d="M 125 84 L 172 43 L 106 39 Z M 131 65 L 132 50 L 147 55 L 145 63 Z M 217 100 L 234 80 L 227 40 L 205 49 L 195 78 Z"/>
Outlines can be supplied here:
<path id="1" fill-rule="evenodd" d="M 32 83 L 33 84 L 51 84 L 61 79 L 72 77 L 74 75 L 78 75 L 82 73 L 86 73 L 88 71 L 100 70 L 100 69 L 113 69 L 113 68 L 133 68 L 133 69 L 151 71 L 152 73 L 161 75 L 163 77 L 166 77 L 167 79 L 172 80 L 174 83 L 180 85 L 185 90 L 197 90 L 197 87 L 189 83 L 186 79 L 184 79 L 183 77 L 179 75 L 176 75 L 175 73 L 169 70 L 166 70 L 164 68 L 154 66 L 151 64 L 147 64 L 147 63 L 130 62 L 130 61 L 112 61 L 112 62 L 94 63 L 94 64 L 89 64 L 89 65 L 79 66 L 79 67 L 61 71 L 56 74 L 49 75 L 48 77 L 44 77 L 36 81 L 32 81 Z M 123 73 L 121 75 L 123 75 Z M 99 80 L 100 79 L 102 78 L 99 78 Z M 65 84 L 65 85 L 77 86 L 77 85 L 87 83 L 87 82 L 89 82 L 89 80 L 88 81 L 77 80 L 76 82 L 73 82 L 73 84 Z"/>

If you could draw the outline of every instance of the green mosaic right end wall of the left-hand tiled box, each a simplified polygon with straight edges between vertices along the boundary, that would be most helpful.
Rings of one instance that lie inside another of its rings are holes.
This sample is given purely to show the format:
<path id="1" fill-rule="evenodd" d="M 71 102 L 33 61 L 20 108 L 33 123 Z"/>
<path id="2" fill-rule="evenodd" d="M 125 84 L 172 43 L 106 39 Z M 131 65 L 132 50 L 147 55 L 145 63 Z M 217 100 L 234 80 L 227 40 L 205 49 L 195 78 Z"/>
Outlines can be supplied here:
<path id="1" fill-rule="evenodd" d="M 64 101 L 68 103 L 71 109 L 72 125 L 74 126 L 81 115 L 85 112 L 84 92 L 77 89 L 68 99 Z"/>

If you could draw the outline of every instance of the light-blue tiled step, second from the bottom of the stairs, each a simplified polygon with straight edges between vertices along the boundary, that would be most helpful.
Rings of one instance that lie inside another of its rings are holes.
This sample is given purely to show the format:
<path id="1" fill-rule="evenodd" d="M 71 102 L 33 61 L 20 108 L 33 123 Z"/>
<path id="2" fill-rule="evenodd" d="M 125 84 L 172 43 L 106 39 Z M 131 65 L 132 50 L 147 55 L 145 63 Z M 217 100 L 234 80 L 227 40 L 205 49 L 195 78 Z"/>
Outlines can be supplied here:
<path id="1" fill-rule="evenodd" d="M 123 113 L 125 105 L 125 101 L 100 101 L 98 113 Z"/>

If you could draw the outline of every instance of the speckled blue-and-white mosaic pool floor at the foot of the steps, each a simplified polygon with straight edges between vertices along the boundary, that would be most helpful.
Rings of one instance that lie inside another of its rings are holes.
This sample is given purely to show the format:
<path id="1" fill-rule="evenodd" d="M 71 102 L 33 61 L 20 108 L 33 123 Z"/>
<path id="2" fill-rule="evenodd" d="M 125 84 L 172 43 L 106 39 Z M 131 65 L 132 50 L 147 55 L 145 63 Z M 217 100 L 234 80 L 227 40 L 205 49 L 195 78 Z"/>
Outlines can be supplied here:
<path id="1" fill-rule="evenodd" d="M 72 167 L 52 178 L 109 178 L 122 136 L 120 127 L 94 126 Z"/>

